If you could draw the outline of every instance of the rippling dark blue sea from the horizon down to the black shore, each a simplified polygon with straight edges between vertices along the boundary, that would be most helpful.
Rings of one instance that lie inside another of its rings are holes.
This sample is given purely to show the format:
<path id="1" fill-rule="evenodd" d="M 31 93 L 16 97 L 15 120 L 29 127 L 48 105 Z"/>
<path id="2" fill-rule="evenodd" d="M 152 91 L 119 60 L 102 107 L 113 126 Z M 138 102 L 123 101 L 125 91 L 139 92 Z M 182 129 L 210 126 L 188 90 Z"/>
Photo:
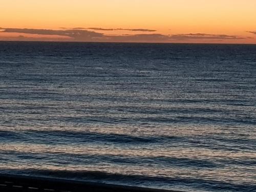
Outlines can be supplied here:
<path id="1" fill-rule="evenodd" d="M 0 173 L 256 191 L 256 46 L 0 42 Z"/>

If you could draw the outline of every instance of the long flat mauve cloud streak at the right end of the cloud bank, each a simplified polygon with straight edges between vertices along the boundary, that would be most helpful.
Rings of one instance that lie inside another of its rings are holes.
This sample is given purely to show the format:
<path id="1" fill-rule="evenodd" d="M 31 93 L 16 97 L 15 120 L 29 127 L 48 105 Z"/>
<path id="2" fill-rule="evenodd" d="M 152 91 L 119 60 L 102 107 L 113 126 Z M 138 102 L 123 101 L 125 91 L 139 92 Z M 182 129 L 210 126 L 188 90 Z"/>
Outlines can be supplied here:
<path id="1" fill-rule="evenodd" d="M 206 40 L 230 40 L 230 39 L 244 39 L 234 35 L 223 34 L 205 34 L 205 33 L 187 33 L 187 34 L 175 34 L 170 36 L 173 40 L 191 40 L 191 39 L 206 39 Z"/>

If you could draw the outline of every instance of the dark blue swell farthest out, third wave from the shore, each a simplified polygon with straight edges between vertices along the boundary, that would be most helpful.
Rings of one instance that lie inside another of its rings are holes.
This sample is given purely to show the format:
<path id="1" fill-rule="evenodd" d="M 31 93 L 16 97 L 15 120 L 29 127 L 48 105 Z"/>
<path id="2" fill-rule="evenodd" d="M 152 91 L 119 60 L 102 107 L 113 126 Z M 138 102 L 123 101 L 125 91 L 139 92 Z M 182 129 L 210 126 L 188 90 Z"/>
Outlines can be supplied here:
<path id="1" fill-rule="evenodd" d="M 185 145 L 190 147 L 209 148 L 210 150 L 223 151 L 255 151 L 256 139 L 254 138 L 232 138 L 225 135 L 194 135 L 175 136 L 175 135 L 128 135 L 117 133 L 99 133 L 82 131 L 3 131 L 0 130 L 0 139 L 7 142 L 25 142 L 38 144 L 82 144 L 82 143 L 114 143 L 118 145 L 153 145 L 165 144 Z"/>

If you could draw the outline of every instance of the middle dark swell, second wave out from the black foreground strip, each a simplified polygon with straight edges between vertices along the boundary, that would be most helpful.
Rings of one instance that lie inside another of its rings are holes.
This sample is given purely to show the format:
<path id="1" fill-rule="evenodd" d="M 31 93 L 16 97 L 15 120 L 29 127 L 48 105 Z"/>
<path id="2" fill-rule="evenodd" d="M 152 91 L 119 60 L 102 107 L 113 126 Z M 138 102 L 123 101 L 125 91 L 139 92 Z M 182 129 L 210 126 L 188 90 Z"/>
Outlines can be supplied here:
<path id="1" fill-rule="evenodd" d="M 253 159 L 246 160 L 219 160 L 219 161 L 210 161 L 207 159 L 191 159 L 191 158 L 182 158 L 182 157 L 163 157 L 163 156 L 155 156 L 155 157 L 138 157 L 138 156 L 129 156 L 129 155 L 113 155 L 113 154 L 68 154 L 61 152 L 19 152 L 19 151 L 3 151 L 1 152 L 3 162 L 12 162 L 15 163 L 18 161 L 25 161 L 38 164 L 44 164 L 44 162 L 48 162 L 51 159 L 52 162 L 58 162 L 62 164 L 95 164 L 98 163 L 109 163 L 114 165 L 130 165 L 130 166 L 145 166 L 150 165 L 152 163 L 155 166 L 161 167 L 179 167 L 179 168 L 221 168 L 224 167 L 224 163 L 226 164 L 236 164 L 236 165 L 247 165 L 253 166 L 256 163 Z M 8 157 L 8 158 L 7 158 Z"/>

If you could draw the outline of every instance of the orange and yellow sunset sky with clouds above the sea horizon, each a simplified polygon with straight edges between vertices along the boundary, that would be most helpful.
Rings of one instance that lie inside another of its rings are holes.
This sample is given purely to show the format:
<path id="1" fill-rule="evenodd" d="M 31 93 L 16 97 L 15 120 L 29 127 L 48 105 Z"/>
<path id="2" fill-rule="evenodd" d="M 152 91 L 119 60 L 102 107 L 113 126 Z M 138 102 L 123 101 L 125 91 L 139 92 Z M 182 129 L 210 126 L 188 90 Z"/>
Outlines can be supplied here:
<path id="1" fill-rule="evenodd" d="M 256 44 L 255 0 L 0 3 L 0 40 Z"/>

